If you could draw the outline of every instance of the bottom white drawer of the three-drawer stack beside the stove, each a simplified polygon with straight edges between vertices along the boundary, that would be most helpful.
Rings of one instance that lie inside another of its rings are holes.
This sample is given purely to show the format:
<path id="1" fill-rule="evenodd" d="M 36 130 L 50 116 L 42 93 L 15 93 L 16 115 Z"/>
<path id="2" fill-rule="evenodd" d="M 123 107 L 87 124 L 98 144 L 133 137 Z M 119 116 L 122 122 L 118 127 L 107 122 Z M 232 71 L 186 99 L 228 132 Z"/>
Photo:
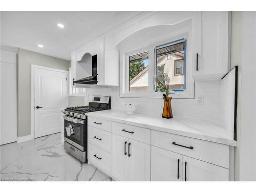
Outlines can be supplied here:
<path id="1" fill-rule="evenodd" d="M 106 174 L 110 174 L 111 155 L 99 147 L 88 143 L 88 160 Z"/>

